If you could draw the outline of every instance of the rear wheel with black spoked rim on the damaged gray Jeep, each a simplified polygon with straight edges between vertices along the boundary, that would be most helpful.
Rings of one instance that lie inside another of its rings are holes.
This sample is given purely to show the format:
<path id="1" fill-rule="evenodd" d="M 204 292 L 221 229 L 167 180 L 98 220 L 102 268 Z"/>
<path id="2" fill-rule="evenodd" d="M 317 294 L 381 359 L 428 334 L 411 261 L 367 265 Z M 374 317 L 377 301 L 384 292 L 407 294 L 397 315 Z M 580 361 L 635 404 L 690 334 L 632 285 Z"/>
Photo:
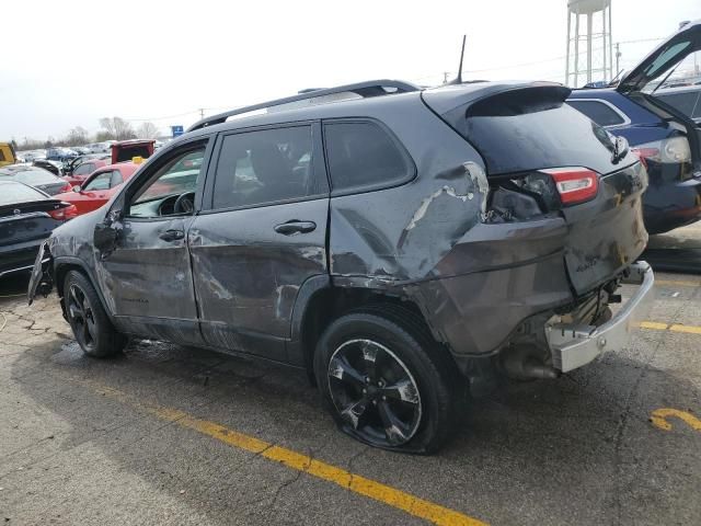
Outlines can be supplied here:
<path id="1" fill-rule="evenodd" d="M 462 421 L 467 379 L 421 317 L 392 304 L 332 322 L 314 374 L 338 427 L 375 447 L 435 453 Z"/>

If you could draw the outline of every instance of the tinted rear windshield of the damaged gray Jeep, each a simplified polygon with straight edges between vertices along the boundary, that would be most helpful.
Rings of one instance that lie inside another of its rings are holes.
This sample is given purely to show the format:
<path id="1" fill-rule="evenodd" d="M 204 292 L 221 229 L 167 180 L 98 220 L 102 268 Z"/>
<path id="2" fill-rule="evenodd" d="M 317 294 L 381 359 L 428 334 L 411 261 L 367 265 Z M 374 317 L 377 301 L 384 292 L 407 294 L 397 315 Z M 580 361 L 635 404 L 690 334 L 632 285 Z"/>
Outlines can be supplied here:
<path id="1" fill-rule="evenodd" d="M 498 103 L 482 106 L 455 126 L 480 151 L 490 175 L 556 167 L 585 167 L 604 174 L 622 168 L 611 162 L 614 146 L 609 133 L 567 104 L 540 105 L 533 112 L 504 111 Z M 491 114 L 496 111 L 502 114 Z"/>

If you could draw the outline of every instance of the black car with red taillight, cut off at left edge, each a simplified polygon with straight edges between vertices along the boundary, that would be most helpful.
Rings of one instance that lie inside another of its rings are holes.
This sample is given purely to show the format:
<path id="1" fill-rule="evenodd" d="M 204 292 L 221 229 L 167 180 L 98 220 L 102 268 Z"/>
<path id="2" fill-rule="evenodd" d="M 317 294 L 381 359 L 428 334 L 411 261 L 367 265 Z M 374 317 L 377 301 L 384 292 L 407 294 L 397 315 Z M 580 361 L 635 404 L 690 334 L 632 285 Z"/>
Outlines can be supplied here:
<path id="1" fill-rule="evenodd" d="M 44 240 L 74 208 L 26 184 L 0 180 L 0 277 L 32 268 Z"/>

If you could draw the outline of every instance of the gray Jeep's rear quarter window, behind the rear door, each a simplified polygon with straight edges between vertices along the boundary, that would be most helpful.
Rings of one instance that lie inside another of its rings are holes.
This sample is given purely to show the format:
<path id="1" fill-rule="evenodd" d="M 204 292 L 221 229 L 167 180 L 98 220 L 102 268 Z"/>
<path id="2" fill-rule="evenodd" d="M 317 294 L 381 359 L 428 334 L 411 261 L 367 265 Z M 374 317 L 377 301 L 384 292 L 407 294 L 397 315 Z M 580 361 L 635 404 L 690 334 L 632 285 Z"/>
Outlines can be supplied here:
<path id="1" fill-rule="evenodd" d="M 406 156 L 375 123 L 327 123 L 324 139 L 334 192 L 392 186 L 413 175 Z"/>

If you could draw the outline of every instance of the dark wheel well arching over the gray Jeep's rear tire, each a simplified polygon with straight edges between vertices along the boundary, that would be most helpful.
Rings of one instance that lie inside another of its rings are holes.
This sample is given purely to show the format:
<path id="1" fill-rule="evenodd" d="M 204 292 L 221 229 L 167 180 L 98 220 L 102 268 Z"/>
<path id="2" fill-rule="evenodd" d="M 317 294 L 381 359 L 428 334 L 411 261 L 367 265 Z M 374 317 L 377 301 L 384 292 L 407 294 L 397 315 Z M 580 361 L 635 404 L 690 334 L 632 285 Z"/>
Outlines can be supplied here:
<path id="1" fill-rule="evenodd" d="M 332 287 L 324 288 L 311 297 L 304 309 L 300 338 L 304 367 L 312 384 L 315 384 L 313 370 L 314 351 L 323 331 L 345 312 L 370 305 L 377 306 L 378 304 L 389 304 L 411 311 L 428 327 L 416 304 L 399 296 L 363 288 Z"/>

